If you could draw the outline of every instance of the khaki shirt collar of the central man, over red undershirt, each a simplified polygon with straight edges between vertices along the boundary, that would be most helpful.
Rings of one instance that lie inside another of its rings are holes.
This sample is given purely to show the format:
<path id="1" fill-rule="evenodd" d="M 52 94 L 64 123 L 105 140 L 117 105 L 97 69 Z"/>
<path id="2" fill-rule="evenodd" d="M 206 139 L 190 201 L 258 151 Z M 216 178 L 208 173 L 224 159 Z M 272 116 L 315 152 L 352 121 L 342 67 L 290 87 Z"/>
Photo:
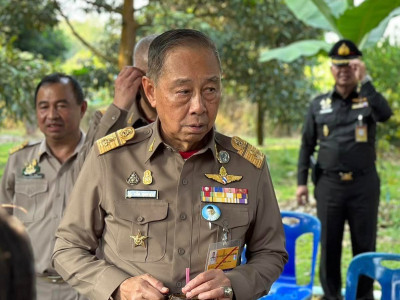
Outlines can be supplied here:
<path id="1" fill-rule="evenodd" d="M 157 117 L 156 121 L 154 123 L 152 123 L 151 125 L 151 129 L 152 129 L 152 134 L 150 136 L 150 139 L 147 142 L 147 152 L 146 152 L 146 161 L 149 160 L 153 155 L 155 155 L 155 153 L 157 152 L 157 150 L 159 148 L 167 148 L 167 149 L 171 149 L 172 151 L 175 151 L 170 145 L 166 144 L 162 137 L 161 137 L 161 133 L 160 133 L 160 120 Z M 211 132 L 209 132 L 206 136 L 206 138 L 208 138 L 208 142 L 207 144 L 202 148 L 199 149 L 198 152 L 196 152 L 194 155 L 199 155 L 202 154 L 204 152 L 206 152 L 207 150 L 210 150 L 213 153 L 213 156 L 216 159 L 216 143 L 215 143 L 215 129 L 211 129 Z"/>

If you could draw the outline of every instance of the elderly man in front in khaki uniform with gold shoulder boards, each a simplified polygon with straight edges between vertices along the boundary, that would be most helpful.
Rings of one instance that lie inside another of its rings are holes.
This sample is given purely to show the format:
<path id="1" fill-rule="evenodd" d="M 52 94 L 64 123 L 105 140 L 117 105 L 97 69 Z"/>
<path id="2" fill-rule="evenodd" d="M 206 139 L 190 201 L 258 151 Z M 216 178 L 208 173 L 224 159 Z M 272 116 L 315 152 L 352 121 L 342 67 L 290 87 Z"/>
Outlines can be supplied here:
<path id="1" fill-rule="evenodd" d="M 287 261 L 284 232 L 264 155 L 214 130 L 214 43 L 194 30 L 163 33 L 142 82 L 158 119 L 96 142 L 56 233 L 56 270 L 96 300 L 256 299 Z M 204 218 L 209 205 L 215 221 Z"/>

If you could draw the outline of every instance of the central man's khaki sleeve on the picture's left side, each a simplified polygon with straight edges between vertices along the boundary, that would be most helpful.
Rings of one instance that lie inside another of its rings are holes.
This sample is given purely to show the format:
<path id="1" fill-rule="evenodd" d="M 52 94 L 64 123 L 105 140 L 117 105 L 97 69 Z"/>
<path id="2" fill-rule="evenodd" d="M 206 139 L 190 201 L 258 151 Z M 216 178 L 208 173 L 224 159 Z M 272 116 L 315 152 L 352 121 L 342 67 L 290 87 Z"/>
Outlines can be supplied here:
<path id="1" fill-rule="evenodd" d="M 95 251 L 104 228 L 101 208 L 105 189 L 102 157 L 94 148 L 78 176 L 65 215 L 56 232 L 53 265 L 76 290 L 90 299 L 109 299 L 116 288 L 131 277 Z"/>

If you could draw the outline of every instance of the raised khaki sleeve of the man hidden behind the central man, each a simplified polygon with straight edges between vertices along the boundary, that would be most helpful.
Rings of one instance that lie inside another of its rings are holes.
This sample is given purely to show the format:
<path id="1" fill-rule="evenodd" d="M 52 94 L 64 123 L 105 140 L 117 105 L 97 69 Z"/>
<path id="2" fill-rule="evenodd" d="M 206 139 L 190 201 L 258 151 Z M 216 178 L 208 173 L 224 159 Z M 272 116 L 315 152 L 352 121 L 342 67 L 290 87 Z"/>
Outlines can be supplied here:
<path id="1" fill-rule="evenodd" d="M 85 143 L 79 151 L 79 155 L 74 165 L 74 171 L 72 172 L 73 182 L 76 181 L 94 142 L 107 134 L 126 127 L 127 114 L 127 111 L 119 109 L 114 104 L 111 104 L 107 108 L 104 115 L 99 110 L 94 113 L 89 123 Z"/>

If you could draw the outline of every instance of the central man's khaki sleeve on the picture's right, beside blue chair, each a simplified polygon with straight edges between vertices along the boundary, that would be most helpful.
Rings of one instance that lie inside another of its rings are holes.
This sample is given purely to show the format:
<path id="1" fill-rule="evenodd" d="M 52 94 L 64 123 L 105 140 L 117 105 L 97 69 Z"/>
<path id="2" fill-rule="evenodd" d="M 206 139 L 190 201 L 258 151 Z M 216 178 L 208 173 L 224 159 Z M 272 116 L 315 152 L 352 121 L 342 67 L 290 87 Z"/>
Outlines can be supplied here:
<path id="1" fill-rule="evenodd" d="M 226 273 L 236 299 L 257 299 L 268 292 L 288 260 L 282 218 L 265 162 L 258 183 L 257 203 L 256 220 L 248 231 L 247 264 Z"/>

